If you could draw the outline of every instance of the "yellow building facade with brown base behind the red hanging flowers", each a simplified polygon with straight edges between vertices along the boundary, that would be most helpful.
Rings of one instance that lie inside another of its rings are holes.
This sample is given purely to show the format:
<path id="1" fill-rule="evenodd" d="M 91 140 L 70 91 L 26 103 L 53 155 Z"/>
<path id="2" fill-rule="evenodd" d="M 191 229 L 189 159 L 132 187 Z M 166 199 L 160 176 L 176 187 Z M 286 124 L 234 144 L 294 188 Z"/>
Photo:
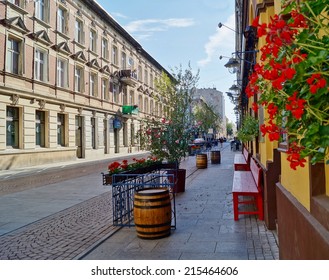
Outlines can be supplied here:
<path id="1" fill-rule="evenodd" d="M 297 1 L 298 2 L 298 1 Z M 237 30 L 246 30 L 256 17 L 259 23 L 268 24 L 271 17 L 281 12 L 280 0 L 236 1 Z M 257 50 L 265 38 L 255 43 Z M 247 39 L 237 42 L 238 51 L 247 51 Z M 247 75 L 241 67 L 238 79 Z M 242 85 L 241 95 L 245 95 Z M 260 124 L 268 121 L 268 114 L 260 108 L 253 112 L 249 98 L 243 114 L 253 115 Z M 312 165 L 307 159 L 305 167 L 293 170 L 287 161 L 287 143 L 270 141 L 259 135 L 256 141 L 244 143 L 258 160 L 264 173 L 264 214 L 269 229 L 276 229 L 281 259 L 329 259 L 329 166 Z"/>

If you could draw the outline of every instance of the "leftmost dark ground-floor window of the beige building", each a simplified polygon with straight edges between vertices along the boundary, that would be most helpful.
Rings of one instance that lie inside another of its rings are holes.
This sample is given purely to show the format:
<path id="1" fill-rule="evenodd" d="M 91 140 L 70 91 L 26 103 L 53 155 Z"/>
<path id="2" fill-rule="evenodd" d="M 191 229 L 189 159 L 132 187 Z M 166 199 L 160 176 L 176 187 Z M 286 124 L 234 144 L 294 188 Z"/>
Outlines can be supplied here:
<path id="1" fill-rule="evenodd" d="M 7 107 L 6 146 L 10 148 L 19 146 L 19 109 L 16 107 Z"/>

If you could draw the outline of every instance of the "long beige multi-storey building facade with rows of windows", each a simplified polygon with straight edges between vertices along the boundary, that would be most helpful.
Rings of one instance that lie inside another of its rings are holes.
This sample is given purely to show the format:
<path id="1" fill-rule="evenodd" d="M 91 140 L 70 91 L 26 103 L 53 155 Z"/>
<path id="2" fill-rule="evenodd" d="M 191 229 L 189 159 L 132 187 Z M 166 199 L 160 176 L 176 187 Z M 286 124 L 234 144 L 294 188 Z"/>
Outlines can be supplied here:
<path id="1" fill-rule="evenodd" d="M 94 1 L 1 1 L 0 55 L 0 170 L 138 151 L 163 112 L 166 70 Z"/>

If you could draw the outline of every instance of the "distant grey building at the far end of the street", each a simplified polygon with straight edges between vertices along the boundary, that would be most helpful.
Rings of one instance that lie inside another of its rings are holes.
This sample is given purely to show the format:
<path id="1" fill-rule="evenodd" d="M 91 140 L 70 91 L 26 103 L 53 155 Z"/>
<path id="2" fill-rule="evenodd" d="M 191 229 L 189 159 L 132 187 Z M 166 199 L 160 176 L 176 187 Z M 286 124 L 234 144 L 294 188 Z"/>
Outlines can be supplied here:
<path id="1" fill-rule="evenodd" d="M 215 112 L 220 116 L 221 119 L 221 130 L 217 136 L 226 137 L 225 101 L 223 93 L 216 88 L 200 88 L 196 89 L 193 97 L 195 99 L 202 98 L 204 102 L 214 107 Z"/>

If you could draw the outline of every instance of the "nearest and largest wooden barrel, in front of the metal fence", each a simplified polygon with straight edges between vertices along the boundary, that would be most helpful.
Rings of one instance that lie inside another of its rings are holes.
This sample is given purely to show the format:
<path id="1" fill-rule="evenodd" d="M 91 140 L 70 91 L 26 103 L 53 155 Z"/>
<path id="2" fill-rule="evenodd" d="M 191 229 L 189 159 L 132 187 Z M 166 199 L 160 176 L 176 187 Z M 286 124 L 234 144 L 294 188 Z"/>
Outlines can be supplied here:
<path id="1" fill-rule="evenodd" d="M 167 188 L 147 188 L 135 192 L 134 222 L 137 236 L 158 239 L 170 235 L 171 201 Z"/>

